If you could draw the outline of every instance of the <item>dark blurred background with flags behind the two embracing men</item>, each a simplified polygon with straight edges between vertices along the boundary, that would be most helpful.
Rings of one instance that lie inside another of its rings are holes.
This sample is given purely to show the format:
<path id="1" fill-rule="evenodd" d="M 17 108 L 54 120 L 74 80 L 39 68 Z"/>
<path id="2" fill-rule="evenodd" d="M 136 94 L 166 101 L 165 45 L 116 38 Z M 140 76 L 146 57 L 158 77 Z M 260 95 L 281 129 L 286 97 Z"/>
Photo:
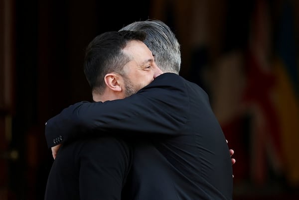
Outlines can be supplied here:
<path id="1" fill-rule="evenodd" d="M 0 0 L 0 200 L 43 199 L 44 124 L 92 100 L 85 47 L 148 18 L 171 27 L 180 75 L 210 96 L 235 150 L 234 200 L 298 200 L 297 0 Z"/>

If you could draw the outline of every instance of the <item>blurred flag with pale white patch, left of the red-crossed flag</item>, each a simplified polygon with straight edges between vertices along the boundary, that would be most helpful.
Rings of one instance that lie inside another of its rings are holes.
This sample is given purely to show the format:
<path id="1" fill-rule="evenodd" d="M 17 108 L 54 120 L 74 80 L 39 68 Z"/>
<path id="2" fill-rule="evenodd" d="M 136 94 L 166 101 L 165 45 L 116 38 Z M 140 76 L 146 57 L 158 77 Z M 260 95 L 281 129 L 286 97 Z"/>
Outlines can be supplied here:
<path id="1" fill-rule="evenodd" d="M 248 27 L 251 16 L 251 1 L 221 1 L 215 9 L 210 3 L 208 27 L 212 27 L 207 43 L 210 51 L 210 66 L 207 66 L 207 88 L 213 111 L 219 120 L 228 145 L 235 151 L 237 164 L 233 166 L 234 183 L 238 185 L 249 179 L 249 148 L 247 116 L 244 115 L 242 96 L 245 87 L 244 46 L 247 46 Z M 213 10 L 212 10 L 213 9 Z M 214 14 L 218 17 L 215 18 Z M 204 27 L 203 27 L 204 28 Z M 201 29 L 203 29 L 201 28 Z M 212 42 L 213 41 L 213 42 Z M 217 42 L 215 42 L 217 41 Z M 212 45 L 212 46 L 211 46 Z M 217 49 L 217 48 L 218 49 Z M 213 51 L 212 51 L 213 50 Z M 199 56 L 195 58 L 198 63 Z M 202 73 L 202 71 L 201 71 Z"/>

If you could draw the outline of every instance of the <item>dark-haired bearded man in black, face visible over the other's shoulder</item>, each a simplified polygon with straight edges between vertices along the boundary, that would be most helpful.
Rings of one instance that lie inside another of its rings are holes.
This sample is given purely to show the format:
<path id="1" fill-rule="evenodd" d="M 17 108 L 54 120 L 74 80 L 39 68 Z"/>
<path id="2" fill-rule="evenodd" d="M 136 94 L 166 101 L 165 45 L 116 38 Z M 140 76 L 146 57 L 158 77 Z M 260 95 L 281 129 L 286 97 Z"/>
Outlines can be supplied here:
<path id="1" fill-rule="evenodd" d="M 111 31 L 90 42 L 84 72 L 94 100 L 109 104 L 126 98 L 162 73 L 143 43 L 145 36 L 144 32 Z M 52 142 L 59 140 L 63 137 Z M 120 200 L 132 156 L 131 145 L 107 132 L 103 137 L 86 135 L 65 142 L 53 162 L 45 200 Z"/>

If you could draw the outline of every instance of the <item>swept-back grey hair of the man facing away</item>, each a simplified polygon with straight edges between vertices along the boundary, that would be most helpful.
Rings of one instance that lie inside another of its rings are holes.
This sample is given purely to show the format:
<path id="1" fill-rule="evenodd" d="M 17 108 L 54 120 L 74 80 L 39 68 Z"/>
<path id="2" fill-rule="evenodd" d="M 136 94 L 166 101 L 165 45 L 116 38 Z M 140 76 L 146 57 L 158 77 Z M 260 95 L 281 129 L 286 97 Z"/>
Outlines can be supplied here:
<path id="1" fill-rule="evenodd" d="M 154 55 L 155 63 L 163 72 L 178 74 L 181 65 L 180 44 L 169 26 L 160 20 L 136 21 L 122 30 L 144 31 L 144 43 Z"/>

